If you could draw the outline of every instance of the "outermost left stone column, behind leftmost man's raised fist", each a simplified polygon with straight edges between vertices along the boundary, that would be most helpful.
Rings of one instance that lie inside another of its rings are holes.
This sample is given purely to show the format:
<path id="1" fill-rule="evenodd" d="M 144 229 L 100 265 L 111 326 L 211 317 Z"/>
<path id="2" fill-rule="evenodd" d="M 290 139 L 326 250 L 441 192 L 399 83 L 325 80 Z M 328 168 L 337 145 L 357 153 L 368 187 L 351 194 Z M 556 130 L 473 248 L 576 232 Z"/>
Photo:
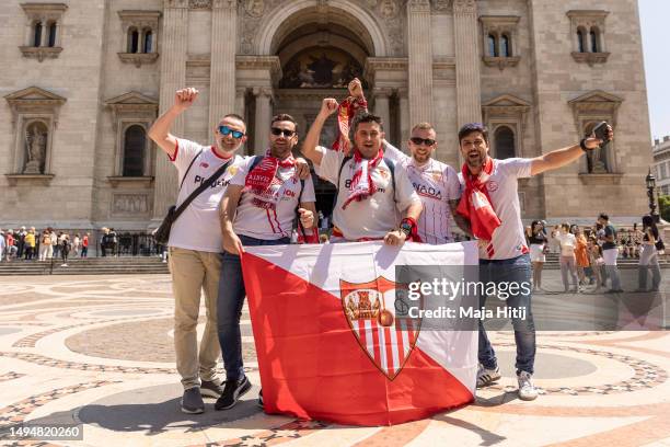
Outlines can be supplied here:
<path id="1" fill-rule="evenodd" d="M 161 45 L 161 84 L 159 113 L 174 103 L 174 93 L 186 82 L 186 44 L 188 42 L 188 0 L 164 0 L 163 42 Z M 173 135 L 184 135 L 184 116 L 172 125 Z M 177 173 L 170 160 L 159 149 L 155 158 L 153 184 L 153 219 L 160 220 L 174 205 L 177 192 Z"/>

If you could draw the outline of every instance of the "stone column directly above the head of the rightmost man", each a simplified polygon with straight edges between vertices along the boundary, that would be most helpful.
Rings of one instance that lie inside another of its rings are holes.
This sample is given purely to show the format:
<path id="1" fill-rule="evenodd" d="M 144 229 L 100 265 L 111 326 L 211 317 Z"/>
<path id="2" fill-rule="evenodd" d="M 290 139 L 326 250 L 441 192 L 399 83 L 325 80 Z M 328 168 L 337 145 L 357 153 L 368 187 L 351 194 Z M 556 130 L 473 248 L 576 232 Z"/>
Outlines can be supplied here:
<path id="1" fill-rule="evenodd" d="M 453 32 L 457 56 L 458 126 L 482 122 L 480 45 L 475 0 L 453 1 Z"/>

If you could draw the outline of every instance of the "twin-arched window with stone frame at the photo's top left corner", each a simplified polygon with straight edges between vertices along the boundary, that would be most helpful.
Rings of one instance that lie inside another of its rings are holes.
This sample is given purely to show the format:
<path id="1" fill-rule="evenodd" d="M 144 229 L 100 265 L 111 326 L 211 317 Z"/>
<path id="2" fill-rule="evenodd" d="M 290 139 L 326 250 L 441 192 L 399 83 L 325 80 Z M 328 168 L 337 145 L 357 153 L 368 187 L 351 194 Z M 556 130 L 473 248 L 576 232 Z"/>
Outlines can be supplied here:
<path id="1" fill-rule="evenodd" d="M 28 32 L 24 45 L 20 46 L 24 57 L 56 58 L 62 51 L 60 23 L 68 9 L 65 3 L 22 3 L 27 18 Z"/>

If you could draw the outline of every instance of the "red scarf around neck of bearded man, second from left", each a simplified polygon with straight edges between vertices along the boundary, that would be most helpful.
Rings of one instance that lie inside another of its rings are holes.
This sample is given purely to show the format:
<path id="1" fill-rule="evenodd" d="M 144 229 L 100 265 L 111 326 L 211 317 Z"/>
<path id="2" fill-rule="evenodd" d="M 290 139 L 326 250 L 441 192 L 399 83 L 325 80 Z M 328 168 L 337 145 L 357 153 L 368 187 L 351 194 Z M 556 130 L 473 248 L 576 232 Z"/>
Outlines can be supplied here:
<path id="1" fill-rule="evenodd" d="M 245 190 L 255 195 L 253 199 L 254 206 L 263 209 L 275 209 L 277 207 L 278 196 L 274 193 L 278 188 L 273 186 L 281 185 L 281 180 L 277 179 L 277 169 L 291 168 L 296 165 L 293 156 L 289 156 L 284 160 L 270 154 L 268 149 L 261 162 L 246 174 L 244 180 Z"/>

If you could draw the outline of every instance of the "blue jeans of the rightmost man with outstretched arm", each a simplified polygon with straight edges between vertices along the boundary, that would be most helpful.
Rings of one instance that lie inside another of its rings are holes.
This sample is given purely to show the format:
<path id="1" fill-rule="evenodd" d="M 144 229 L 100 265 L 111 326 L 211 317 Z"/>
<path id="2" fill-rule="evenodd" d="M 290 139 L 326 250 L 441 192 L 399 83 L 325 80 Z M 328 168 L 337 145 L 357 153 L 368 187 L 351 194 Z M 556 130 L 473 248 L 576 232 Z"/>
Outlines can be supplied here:
<path id="1" fill-rule="evenodd" d="M 509 260 L 480 260 L 480 280 L 484 284 L 515 282 L 518 284 L 531 283 L 531 263 L 528 254 Z M 497 286 L 496 286 L 497 287 Z M 497 298 L 496 298 L 497 299 Z M 486 305 L 486 295 L 480 296 L 480 307 Z M 512 318 L 515 328 L 515 341 L 517 342 L 517 374 L 527 371 L 533 374 L 535 363 L 535 323 L 531 311 L 530 286 L 528 294 L 519 293 L 507 299 L 508 308 L 525 308 L 525 319 Z M 495 369 L 497 366 L 496 353 L 494 352 L 484 324 L 480 320 L 480 363 L 487 369 Z"/>

